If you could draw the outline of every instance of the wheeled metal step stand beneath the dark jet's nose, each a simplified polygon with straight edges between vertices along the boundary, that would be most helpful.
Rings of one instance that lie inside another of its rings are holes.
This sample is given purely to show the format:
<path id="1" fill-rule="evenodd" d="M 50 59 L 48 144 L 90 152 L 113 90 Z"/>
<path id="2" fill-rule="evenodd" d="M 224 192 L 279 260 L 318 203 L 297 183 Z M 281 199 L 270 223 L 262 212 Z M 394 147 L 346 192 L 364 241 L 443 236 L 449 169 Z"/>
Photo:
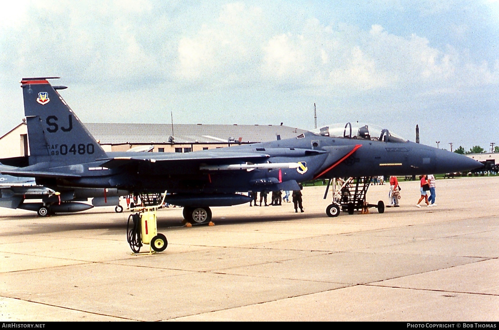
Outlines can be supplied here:
<path id="1" fill-rule="evenodd" d="M 340 210 L 348 212 L 348 214 L 353 214 L 355 210 L 361 210 L 363 214 L 369 213 L 370 207 L 376 207 L 378 213 L 385 212 L 385 203 L 382 200 L 378 201 L 377 204 L 368 204 L 366 202 L 367 189 L 369 189 L 371 178 L 363 176 L 350 177 L 346 181 L 341 179 L 329 180 L 326 192 L 324 193 L 324 199 L 327 197 L 329 185 L 333 182 L 333 201 L 326 208 L 327 216 L 338 216 Z"/>

